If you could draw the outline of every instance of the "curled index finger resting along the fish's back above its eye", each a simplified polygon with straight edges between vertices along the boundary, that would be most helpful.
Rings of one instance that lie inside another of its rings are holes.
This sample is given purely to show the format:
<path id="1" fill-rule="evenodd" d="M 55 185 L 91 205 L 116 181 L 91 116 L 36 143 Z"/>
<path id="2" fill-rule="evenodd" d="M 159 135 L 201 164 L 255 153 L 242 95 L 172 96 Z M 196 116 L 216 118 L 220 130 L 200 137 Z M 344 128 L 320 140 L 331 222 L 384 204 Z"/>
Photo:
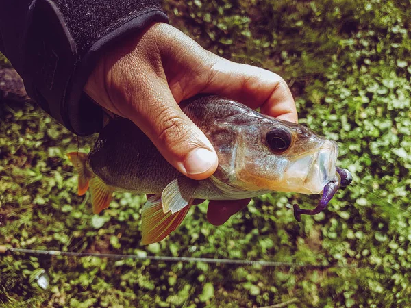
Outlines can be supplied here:
<path id="1" fill-rule="evenodd" d="M 269 116 L 297 123 L 295 102 L 286 81 L 279 75 L 247 64 L 221 58 L 210 68 L 203 93 L 220 94 Z"/>

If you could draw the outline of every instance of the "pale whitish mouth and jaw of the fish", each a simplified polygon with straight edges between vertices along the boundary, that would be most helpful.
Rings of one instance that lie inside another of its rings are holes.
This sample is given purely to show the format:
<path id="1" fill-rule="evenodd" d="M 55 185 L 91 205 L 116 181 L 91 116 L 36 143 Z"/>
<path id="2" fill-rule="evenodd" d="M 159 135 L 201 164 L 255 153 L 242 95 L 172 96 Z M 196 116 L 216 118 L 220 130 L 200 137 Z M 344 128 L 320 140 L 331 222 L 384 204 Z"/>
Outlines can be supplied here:
<path id="1" fill-rule="evenodd" d="M 338 145 L 325 140 L 316 151 L 296 157 L 284 172 L 283 181 L 290 191 L 321 194 L 336 175 Z"/>

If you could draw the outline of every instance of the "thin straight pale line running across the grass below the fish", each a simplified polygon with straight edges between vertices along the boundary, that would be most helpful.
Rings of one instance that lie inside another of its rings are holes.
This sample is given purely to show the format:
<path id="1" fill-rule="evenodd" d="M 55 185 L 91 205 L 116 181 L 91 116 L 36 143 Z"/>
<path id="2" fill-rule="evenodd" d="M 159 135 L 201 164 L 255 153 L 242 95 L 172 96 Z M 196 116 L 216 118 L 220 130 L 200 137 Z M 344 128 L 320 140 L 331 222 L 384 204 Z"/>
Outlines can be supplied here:
<path id="1" fill-rule="evenodd" d="M 163 262 L 203 262 L 208 264 L 231 264 L 237 266 L 269 266 L 269 267 L 286 267 L 286 268 L 365 268 L 361 264 L 306 264 L 294 262 L 276 262 L 263 260 L 242 260 L 242 259 L 213 259 L 202 257 L 172 257 L 157 255 L 123 255 L 115 253 L 75 253 L 73 251 L 47 251 L 40 249 L 26 248 L 8 248 L 0 246 L 0 255 L 14 255 L 16 253 L 25 253 L 29 255 L 62 255 L 65 257 L 99 257 L 107 259 L 139 259 Z"/>

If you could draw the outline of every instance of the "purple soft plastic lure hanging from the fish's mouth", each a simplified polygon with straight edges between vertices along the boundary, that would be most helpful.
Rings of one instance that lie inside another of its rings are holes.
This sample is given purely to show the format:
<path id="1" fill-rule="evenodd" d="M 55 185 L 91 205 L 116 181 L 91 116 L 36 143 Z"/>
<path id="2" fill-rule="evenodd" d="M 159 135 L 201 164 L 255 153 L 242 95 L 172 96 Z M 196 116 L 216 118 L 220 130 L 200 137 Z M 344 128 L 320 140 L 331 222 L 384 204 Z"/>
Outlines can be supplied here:
<path id="1" fill-rule="evenodd" d="M 327 185 L 325 185 L 323 196 L 319 201 L 319 205 L 316 206 L 315 209 L 300 209 L 299 205 L 294 205 L 294 217 L 298 222 L 301 222 L 301 214 L 306 215 L 315 215 L 321 213 L 327 207 L 329 201 L 331 201 L 332 197 L 338 191 L 340 186 L 347 186 L 351 183 L 353 177 L 351 176 L 351 172 L 347 169 L 342 169 L 337 167 L 336 168 L 336 177 L 332 181 L 330 181 Z"/>

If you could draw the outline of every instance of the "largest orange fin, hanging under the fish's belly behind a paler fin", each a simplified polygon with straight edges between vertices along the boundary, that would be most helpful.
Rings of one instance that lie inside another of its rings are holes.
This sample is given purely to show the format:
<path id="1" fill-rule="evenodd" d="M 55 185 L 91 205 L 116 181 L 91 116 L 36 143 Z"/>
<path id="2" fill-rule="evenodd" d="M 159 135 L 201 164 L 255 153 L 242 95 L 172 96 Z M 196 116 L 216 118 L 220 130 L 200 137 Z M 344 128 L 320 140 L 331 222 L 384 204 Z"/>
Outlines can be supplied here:
<path id="1" fill-rule="evenodd" d="M 142 244 L 160 242 L 177 229 L 186 217 L 192 201 L 193 199 L 190 199 L 188 206 L 175 214 L 171 214 L 171 211 L 164 213 L 161 196 L 156 195 L 149 198 L 141 211 Z"/>

